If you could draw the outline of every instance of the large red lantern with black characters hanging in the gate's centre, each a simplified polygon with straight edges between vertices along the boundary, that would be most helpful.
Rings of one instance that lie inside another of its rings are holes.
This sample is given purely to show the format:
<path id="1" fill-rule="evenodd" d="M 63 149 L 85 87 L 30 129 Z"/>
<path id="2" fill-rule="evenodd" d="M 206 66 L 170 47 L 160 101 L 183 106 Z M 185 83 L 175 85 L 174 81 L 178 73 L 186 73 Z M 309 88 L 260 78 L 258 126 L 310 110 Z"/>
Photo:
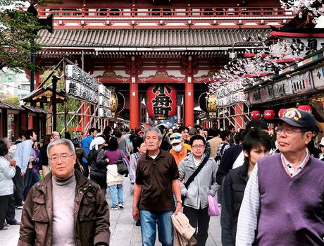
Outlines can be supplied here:
<path id="1" fill-rule="evenodd" d="M 149 116 L 166 119 L 174 116 L 177 107 L 177 90 L 172 85 L 152 85 L 147 88 Z"/>

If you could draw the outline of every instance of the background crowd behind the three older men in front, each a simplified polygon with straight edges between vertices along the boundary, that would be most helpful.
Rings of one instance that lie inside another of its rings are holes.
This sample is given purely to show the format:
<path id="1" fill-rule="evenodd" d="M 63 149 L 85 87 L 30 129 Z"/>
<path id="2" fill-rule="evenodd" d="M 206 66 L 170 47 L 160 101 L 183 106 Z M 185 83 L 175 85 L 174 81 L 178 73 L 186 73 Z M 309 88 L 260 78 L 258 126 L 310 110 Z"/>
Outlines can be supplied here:
<path id="1" fill-rule="evenodd" d="M 75 147 L 75 170 L 97 183 L 105 196 L 108 190 L 112 210 L 124 208 L 123 180 L 127 174 L 118 173 L 116 164 L 120 160 L 125 160 L 131 184 L 130 195 L 134 194 L 137 163 L 141 156 L 147 154 L 144 130 L 142 125 L 132 130 L 107 126 L 102 132 L 101 129 L 90 128 L 88 133 L 77 132 L 74 137 L 68 132 L 64 134 L 64 138 L 71 140 Z M 192 192 L 198 196 L 188 195 L 182 205 L 190 224 L 199 228 L 196 234 L 199 245 L 204 245 L 208 237 L 208 195 L 218 197 L 223 210 L 222 240 L 224 245 L 231 245 L 235 242 L 239 207 L 254 165 L 262 156 L 280 152 L 276 140 L 278 128 L 254 120 L 247 124 L 245 130 L 236 130 L 233 125 L 225 129 L 204 129 L 200 125 L 178 128 L 159 125 L 158 130 L 161 132 L 160 148 L 172 154 L 179 168 L 181 194 Z M 324 137 L 320 148 L 314 144 L 318 132 L 318 128 L 313 131 L 307 151 L 311 156 L 324 159 Z M 23 208 L 32 185 L 51 171 L 46 148 L 50 142 L 61 137 L 60 133 L 53 132 L 39 144 L 35 131 L 21 130 L 18 140 L 12 145 L 6 137 L 0 140 L 0 230 L 6 229 L 8 224 L 20 224 L 15 219 L 15 208 Z M 208 170 L 205 168 L 205 172 L 199 174 L 201 178 L 197 178 L 195 184 L 185 187 L 181 182 L 187 180 L 205 156 L 209 158 L 205 164 Z M 236 184 L 235 189 L 233 183 Z M 201 187 L 208 189 L 201 190 Z"/>

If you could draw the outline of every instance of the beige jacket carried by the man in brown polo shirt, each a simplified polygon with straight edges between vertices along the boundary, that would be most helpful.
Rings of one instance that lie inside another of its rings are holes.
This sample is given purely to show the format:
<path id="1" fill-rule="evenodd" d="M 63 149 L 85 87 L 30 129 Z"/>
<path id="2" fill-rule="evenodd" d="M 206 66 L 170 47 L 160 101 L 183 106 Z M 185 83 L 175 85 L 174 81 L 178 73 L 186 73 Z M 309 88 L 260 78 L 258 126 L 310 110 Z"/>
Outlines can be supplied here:
<path id="1" fill-rule="evenodd" d="M 193 235 L 195 229 L 190 226 L 189 219 L 178 212 L 177 215 L 171 215 L 171 221 L 173 223 L 173 246 L 191 246 L 196 244 L 196 240 Z"/>

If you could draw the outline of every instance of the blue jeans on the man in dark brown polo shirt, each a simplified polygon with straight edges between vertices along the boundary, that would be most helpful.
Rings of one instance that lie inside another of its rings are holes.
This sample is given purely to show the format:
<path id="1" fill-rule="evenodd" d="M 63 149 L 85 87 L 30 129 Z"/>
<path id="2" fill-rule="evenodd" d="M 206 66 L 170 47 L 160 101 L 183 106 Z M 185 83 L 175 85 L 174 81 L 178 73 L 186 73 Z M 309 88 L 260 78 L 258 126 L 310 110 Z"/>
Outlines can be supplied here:
<path id="1" fill-rule="evenodd" d="M 140 211 L 143 246 L 154 246 L 156 238 L 156 223 L 158 224 L 158 240 L 163 246 L 173 246 L 172 214 L 173 211 L 160 213 L 147 210 Z"/>

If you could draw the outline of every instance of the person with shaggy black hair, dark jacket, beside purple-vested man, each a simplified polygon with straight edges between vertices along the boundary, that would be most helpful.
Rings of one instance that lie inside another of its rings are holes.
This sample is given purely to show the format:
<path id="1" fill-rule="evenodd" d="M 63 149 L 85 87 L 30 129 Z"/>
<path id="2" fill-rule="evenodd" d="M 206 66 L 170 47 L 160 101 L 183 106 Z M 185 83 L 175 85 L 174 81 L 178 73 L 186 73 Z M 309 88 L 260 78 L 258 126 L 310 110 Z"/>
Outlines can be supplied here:
<path id="1" fill-rule="evenodd" d="M 251 129 L 245 135 L 243 141 L 244 164 L 230 170 L 222 185 L 220 226 L 222 227 L 223 245 L 235 245 L 237 219 L 247 181 L 258 159 L 267 156 L 270 149 L 270 137 L 263 130 Z"/>

